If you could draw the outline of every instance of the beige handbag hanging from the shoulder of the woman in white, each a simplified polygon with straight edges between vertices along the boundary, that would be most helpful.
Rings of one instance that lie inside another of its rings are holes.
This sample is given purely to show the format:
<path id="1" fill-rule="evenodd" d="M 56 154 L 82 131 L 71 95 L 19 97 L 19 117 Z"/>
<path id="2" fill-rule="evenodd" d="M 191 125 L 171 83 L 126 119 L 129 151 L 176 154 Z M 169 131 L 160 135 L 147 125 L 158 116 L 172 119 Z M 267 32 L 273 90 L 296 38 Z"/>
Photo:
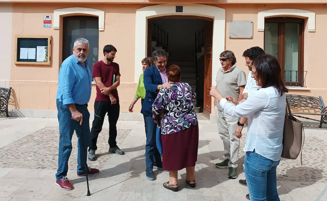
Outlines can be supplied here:
<path id="1" fill-rule="evenodd" d="M 303 130 L 303 143 L 302 143 Z M 287 159 L 296 159 L 304 145 L 304 128 L 303 123 L 293 117 L 291 108 L 286 98 L 286 112 L 283 133 L 283 152 L 282 157 Z M 301 151 L 302 165 L 302 151 Z"/>

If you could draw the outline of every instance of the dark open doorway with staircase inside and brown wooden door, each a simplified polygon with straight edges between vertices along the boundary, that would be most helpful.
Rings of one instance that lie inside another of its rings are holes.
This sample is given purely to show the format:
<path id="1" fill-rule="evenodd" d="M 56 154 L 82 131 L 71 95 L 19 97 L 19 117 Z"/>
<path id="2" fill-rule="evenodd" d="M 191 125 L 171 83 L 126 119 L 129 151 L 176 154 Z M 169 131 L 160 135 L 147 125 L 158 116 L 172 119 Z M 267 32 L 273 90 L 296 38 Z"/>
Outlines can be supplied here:
<path id="1" fill-rule="evenodd" d="M 167 67 L 179 65 L 181 80 L 197 93 L 197 113 L 211 113 L 213 19 L 198 16 L 163 16 L 148 20 L 147 55 L 157 49 L 168 53 Z"/>

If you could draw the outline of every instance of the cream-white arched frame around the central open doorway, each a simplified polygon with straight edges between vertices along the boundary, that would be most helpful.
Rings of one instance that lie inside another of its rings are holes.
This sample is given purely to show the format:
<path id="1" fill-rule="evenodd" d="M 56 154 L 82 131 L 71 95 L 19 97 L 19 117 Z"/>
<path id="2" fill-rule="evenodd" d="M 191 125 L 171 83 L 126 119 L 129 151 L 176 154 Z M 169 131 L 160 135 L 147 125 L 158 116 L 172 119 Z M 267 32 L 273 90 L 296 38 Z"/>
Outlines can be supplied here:
<path id="1" fill-rule="evenodd" d="M 183 12 L 176 12 L 176 6 L 183 6 Z M 138 83 L 142 74 L 141 60 L 147 56 L 147 20 L 169 15 L 193 15 L 213 19 L 212 83 L 215 85 L 220 66 L 219 54 L 225 50 L 225 9 L 202 4 L 161 4 L 136 10 L 134 83 Z"/>

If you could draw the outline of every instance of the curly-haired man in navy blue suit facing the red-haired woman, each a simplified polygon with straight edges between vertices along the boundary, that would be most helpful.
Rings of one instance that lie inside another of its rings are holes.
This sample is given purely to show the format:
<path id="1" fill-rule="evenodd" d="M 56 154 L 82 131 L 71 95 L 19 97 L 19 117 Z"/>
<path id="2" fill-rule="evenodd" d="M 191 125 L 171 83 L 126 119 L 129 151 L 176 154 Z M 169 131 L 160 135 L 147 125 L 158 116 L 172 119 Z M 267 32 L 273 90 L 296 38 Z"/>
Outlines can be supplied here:
<path id="1" fill-rule="evenodd" d="M 156 146 L 157 124 L 152 119 L 152 104 L 161 87 L 170 88 L 166 74 L 167 52 L 155 50 L 152 53 L 154 65 L 144 71 L 143 79 L 146 89 L 141 113 L 146 117 L 146 179 L 155 180 L 153 168 L 163 171 L 160 153 Z"/>

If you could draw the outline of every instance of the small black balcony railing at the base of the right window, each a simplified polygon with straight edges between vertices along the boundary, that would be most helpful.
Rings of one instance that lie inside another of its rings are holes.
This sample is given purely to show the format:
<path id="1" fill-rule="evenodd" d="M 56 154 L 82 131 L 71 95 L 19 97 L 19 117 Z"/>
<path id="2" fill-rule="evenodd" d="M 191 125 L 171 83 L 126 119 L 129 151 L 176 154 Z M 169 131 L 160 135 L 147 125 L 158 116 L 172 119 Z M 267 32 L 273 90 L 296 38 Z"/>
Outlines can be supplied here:
<path id="1" fill-rule="evenodd" d="M 285 70 L 284 83 L 286 86 L 305 87 L 304 79 L 307 71 Z"/>

